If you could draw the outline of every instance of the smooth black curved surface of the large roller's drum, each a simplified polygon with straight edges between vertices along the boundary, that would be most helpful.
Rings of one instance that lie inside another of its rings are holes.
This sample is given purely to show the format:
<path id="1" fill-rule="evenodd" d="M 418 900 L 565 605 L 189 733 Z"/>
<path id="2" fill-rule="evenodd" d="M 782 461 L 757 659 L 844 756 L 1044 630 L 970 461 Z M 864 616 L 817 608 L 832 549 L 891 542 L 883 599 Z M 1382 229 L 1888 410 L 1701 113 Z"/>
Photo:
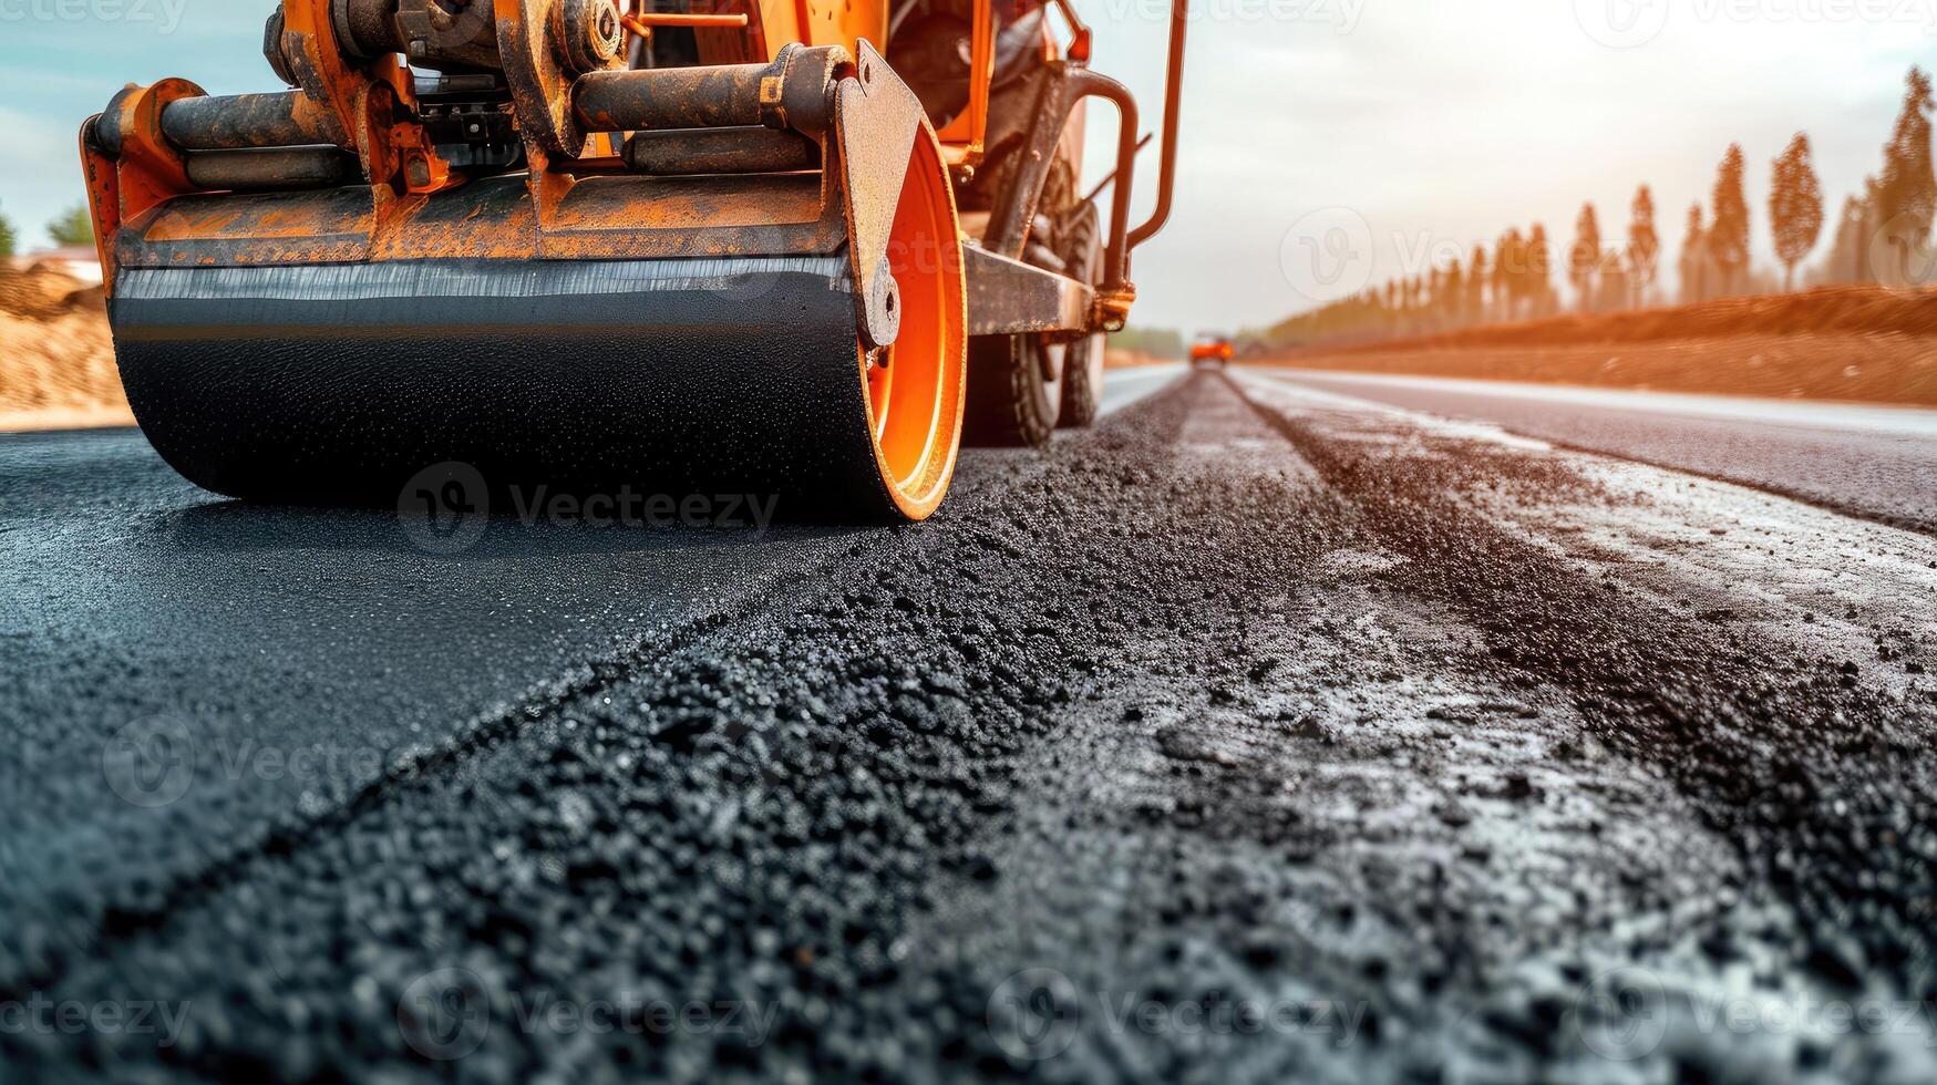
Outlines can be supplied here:
<path id="1" fill-rule="evenodd" d="M 126 269 L 110 316 L 149 440 L 236 498 L 382 506 L 459 461 L 498 492 L 889 506 L 841 256 Z"/>

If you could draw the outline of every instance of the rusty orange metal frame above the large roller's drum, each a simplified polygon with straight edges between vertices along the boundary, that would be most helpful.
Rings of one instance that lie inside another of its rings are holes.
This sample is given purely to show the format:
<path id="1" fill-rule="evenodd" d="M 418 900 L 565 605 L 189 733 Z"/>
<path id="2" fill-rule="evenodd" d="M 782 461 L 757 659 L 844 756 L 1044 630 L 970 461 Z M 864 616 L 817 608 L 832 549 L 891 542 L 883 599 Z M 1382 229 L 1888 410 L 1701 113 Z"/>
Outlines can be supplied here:
<path id="1" fill-rule="evenodd" d="M 837 136 L 829 87 L 854 81 L 856 56 L 862 64 L 874 58 L 887 70 L 864 45 L 870 31 L 885 29 L 885 4 L 744 0 L 752 10 L 748 25 L 713 17 L 703 19 L 697 33 L 705 35 L 703 60 L 759 54 L 752 64 L 624 72 L 614 58 L 591 58 L 579 68 L 593 70 L 571 72 L 556 41 L 562 23 L 554 16 L 562 2 L 490 0 L 504 76 L 527 145 L 529 178 L 515 188 L 529 188 L 535 221 L 504 211 L 513 186 L 490 178 L 465 184 L 438 155 L 415 120 L 415 85 L 395 56 L 351 62 L 353 50 L 341 41 L 331 0 L 283 0 L 269 25 L 267 52 L 294 91 L 205 97 L 194 83 L 165 79 L 130 87 L 83 126 L 81 151 L 108 291 L 118 265 L 130 260 L 149 265 L 430 256 L 616 260 L 827 252 L 846 240 L 856 260 L 864 260 L 854 267 L 856 281 L 868 287 L 860 296 L 872 298 L 870 310 L 887 306 L 893 279 L 883 281 L 874 265 L 877 246 L 866 238 L 879 234 L 881 223 L 868 200 L 887 186 L 897 153 L 905 149 L 907 118 L 887 124 L 889 141 L 897 143 L 887 151 L 864 138 L 843 138 L 839 151 L 827 143 Z M 703 0 L 707 8 L 728 2 Z M 1139 147 L 1137 105 L 1122 83 L 1087 68 L 1091 31 L 1069 0 L 1052 4 L 1069 23 L 1071 43 L 1050 66 L 1023 165 L 998 194 L 984 244 L 967 258 L 970 281 L 986 279 L 988 287 L 972 289 L 970 326 L 976 329 L 1120 329 L 1135 300 L 1129 252 L 1170 217 L 1187 0 L 1172 0 L 1156 207 L 1135 229 L 1129 227 L 1129 200 Z M 974 2 L 974 19 L 970 105 L 938 134 L 955 141 L 951 159 L 959 163 L 974 163 L 984 153 L 994 79 L 990 0 Z M 891 70 L 887 76 L 893 79 Z M 866 81 L 856 81 L 852 107 L 843 112 L 856 118 L 877 112 L 858 108 Z M 899 79 L 893 85 L 899 87 Z M 1056 141 L 1087 97 L 1110 99 L 1120 118 L 1104 281 L 1096 289 L 1019 262 Z M 891 99 L 905 101 L 905 95 Z M 628 161 L 647 157 L 645 145 L 622 157 L 622 140 L 614 136 L 701 128 L 792 132 L 819 145 L 823 169 L 817 176 L 753 172 L 759 163 L 802 161 L 810 149 L 748 132 L 711 138 L 713 149 L 724 155 L 719 161 L 752 163 L 746 172 L 651 176 L 666 170 L 628 172 Z M 260 153 L 271 147 L 325 151 Z M 353 169 L 345 153 L 354 155 L 368 188 L 323 188 Z M 854 163 L 862 159 L 870 165 L 866 180 L 856 182 Z M 825 169 L 831 165 L 841 169 Z M 213 184 L 227 184 L 229 192 L 205 194 Z M 298 186 L 314 186 L 318 198 L 292 203 L 271 192 Z M 263 194 L 248 196 L 246 190 Z M 449 213 L 459 205 L 471 207 L 469 219 Z M 475 229 L 477 221 L 490 223 L 494 209 L 500 229 Z M 860 219 L 868 221 L 860 231 L 866 238 L 852 229 Z M 459 229 L 459 221 L 473 229 Z M 1085 306 L 1071 308 L 1071 298 L 1085 296 Z M 893 337 L 881 312 L 860 316 L 872 329 L 870 339 Z"/>

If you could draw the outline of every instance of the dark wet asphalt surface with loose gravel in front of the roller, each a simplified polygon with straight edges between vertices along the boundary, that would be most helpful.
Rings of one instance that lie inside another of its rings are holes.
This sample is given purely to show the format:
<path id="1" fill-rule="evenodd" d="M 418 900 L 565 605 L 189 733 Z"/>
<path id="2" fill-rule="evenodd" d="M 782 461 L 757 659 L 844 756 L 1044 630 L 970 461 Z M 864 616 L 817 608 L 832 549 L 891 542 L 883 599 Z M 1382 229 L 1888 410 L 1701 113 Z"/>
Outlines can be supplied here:
<path id="1" fill-rule="evenodd" d="M 1937 1077 L 1875 517 L 1199 372 L 912 529 L 4 438 L 0 568 L 0 1077 Z"/>

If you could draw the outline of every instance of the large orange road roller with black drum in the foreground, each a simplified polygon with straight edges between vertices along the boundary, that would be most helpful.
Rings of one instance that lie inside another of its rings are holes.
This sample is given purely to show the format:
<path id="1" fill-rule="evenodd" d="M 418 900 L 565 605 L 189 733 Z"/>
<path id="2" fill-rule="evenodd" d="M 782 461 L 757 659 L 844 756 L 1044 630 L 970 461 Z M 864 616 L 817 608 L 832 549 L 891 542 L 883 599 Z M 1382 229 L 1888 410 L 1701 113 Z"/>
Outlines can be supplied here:
<path id="1" fill-rule="evenodd" d="M 1137 103 L 1067 0 L 281 0 L 287 89 L 163 79 L 83 124 L 128 401 L 242 500 L 463 465 L 924 519 L 965 432 L 1096 417 L 1184 29 L 1174 0 L 1133 225 Z"/>

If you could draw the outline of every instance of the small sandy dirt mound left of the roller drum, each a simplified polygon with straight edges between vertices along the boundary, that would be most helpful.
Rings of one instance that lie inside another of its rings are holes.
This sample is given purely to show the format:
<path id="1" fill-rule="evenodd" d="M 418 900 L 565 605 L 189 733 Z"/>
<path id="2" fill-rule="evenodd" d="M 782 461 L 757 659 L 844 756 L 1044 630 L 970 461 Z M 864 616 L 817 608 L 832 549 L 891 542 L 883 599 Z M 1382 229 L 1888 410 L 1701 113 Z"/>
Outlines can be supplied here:
<path id="1" fill-rule="evenodd" d="M 101 291 L 0 265 L 0 430 L 134 424 Z"/>

